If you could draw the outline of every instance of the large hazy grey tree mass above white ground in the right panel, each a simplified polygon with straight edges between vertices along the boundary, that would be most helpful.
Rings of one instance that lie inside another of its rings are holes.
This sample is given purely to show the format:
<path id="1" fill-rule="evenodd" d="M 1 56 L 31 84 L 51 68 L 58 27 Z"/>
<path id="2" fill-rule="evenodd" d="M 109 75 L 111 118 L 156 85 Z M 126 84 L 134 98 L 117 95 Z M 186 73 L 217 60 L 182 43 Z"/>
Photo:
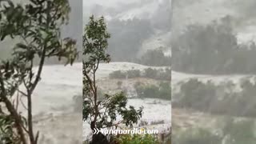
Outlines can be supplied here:
<path id="1" fill-rule="evenodd" d="M 209 25 L 188 26 L 172 41 L 174 70 L 199 74 L 256 74 L 254 42 L 238 44 L 227 15 Z"/>

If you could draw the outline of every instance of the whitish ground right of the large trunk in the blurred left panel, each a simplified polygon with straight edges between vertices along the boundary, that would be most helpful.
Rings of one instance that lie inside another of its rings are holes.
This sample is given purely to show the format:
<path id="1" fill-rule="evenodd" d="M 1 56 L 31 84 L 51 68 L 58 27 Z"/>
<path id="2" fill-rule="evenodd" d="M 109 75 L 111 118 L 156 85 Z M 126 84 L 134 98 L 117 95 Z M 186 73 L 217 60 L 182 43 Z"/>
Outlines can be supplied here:
<path id="1" fill-rule="evenodd" d="M 82 110 L 74 112 L 72 100 L 78 94 L 82 94 L 81 63 L 43 68 L 33 97 L 34 126 L 40 131 L 40 143 L 82 143 Z"/>

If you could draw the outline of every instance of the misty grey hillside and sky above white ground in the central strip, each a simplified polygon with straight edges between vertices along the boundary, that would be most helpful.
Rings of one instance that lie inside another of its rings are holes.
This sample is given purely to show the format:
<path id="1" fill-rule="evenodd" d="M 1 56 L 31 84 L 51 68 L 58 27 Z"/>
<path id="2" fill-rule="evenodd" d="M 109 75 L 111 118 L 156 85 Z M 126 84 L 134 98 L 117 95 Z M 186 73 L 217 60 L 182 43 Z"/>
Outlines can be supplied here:
<path id="1" fill-rule="evenodd" d="M 170 66 L 170 0 L 96 0 L 83 5 L 84 23 L 91 14 L 106 18 L 112 61 Z M 152 50 L 159 51 L 152 55 Z M 162 62 L 149 62 L 149 57 Z"/>

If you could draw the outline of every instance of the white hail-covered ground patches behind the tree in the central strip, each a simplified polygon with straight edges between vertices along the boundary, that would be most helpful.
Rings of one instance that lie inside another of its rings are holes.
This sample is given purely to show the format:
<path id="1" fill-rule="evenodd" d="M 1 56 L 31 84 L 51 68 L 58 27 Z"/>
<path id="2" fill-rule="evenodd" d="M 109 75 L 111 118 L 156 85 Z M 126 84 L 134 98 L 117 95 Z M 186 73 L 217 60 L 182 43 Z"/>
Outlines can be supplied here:
<path id="1" fill-rule="evenodd" d="M 146 68 L 153 69 L 165 69 L 165 66 L 143 66 L 136 63 L 130 62 L 110 62 L 110 63 L 102 63 L 99 66 L 98 73 L 96 75 L 97 78 L 101 80 L 109 78 L 109 74 L 114 72 L 115 70 L 145 70 Z M 164 121 L 163 124 L 148 126 L 149 129 L 157 129 L 160 132 L 162 130 L 167 130 L 171 126 L 171 102 L 160 100 L 160 99 L 129 99 L 128 106 L 134 106 L 135 108 L 139 108 L 140 106 L 144 107 L 142 114 L 142 121 L 146 122 L 157 122 Z M 83 138 L 87 138 L 90 135 L 90 126 L 88 123 L 84 123 L 83 126 Z"/>

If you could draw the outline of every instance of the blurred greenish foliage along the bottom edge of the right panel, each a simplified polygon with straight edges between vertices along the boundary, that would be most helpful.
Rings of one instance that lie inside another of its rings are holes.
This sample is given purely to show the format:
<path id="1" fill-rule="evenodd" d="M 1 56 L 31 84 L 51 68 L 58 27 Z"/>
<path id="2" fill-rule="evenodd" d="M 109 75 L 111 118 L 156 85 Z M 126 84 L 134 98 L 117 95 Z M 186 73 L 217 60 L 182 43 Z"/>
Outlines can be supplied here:
<path id="1" fill-rule="evenodd" d="M 235 120 L 235 118 L 220 118 L 218 130 L 210 128 L 192 127 L 186 130 L 175 130 L 173 142 L 180 144 L 205 144 L 205 143 L 226 143 L 226 144 L 253 144 L 255 142 L 255 122 L 250 119 Z"/>

